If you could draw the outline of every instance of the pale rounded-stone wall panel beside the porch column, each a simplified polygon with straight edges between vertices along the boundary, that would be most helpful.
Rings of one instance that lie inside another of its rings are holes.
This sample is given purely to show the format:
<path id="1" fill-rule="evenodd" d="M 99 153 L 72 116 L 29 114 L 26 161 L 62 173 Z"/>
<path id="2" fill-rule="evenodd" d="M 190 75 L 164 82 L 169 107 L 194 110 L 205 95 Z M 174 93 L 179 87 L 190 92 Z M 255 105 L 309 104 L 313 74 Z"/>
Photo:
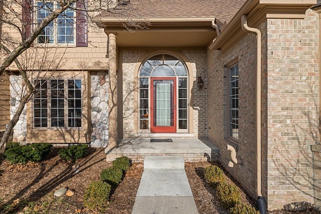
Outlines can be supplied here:
<path id="1" fill-rule="evenodd" d="M 108 145 L 108 73 L 91 73 L 91 143 L 92 147 Z"/>

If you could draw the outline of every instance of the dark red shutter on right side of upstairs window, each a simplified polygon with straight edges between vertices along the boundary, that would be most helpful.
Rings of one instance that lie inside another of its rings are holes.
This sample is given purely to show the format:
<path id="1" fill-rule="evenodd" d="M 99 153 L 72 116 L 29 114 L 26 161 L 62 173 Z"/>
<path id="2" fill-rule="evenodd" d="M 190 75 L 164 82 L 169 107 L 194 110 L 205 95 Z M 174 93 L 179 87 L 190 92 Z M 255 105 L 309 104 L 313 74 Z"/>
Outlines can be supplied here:
<path id="1" fill-rule="evenodd" d="M 85 9 L 86 0 L 78 0 L 77 8 Z M 87 16 L 85 11 L 77 11 L 76 17 L 76 46 L 78 47 L 87 47 L 88 46 L 88 24 L 87 24 Z"/>

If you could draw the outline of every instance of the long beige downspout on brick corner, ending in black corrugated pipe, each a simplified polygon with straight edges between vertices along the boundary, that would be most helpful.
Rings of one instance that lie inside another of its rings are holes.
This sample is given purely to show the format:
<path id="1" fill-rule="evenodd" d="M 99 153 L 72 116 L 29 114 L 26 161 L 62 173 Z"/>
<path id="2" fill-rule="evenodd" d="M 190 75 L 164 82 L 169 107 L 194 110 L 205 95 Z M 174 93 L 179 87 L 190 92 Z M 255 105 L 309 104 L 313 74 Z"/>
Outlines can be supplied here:
<path id="1" fill-rule="evenodd" d="M 258 195 L 258 200 L 257 206 L 258 209 L 260 210 L 261 213 L 267 213 L 267 209 L 265 206 L 265 200 L 264 197 L 262 196 L 262 163 L 261 163 L 261 32 L 260 30 L 256 28 L 250 28 L 247 25 L 247 18 L 246 15 L 242 15 L 241 17 L 241 22 L 242 22 L 242 30 L 245 32 L 249 33 L 254 33 L 256 34 L 256 39 L 257 39 L 257 52 L 256 52 L 256 57 L 257 57 L 257 64 L 256 64 L 256 112 L 255 112 L 255 124 L 256 124 L 256 169 L 257 169 L 257 195 Z"/>

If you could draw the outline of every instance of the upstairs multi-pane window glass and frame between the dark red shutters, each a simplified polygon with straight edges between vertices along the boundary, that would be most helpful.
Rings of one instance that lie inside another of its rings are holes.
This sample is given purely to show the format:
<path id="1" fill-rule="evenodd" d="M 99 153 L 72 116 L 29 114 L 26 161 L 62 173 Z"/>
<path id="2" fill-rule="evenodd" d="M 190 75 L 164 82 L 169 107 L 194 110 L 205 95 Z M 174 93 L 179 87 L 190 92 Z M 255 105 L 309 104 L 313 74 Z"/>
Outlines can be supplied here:
<path id="1" fill-rule="evenodd" d="M 43 19 L 48 17 L 54 10 L 58 9 L 60 5 L 55 2 L 37 2 L 37 23 L 41 23 Z M 39 44 L 68 44 L 76 45 L 76 12 L 67 8 L 61 15 L 53 22 L 49 23 L 41 35 L 38 36 L 37 42 Z"/>

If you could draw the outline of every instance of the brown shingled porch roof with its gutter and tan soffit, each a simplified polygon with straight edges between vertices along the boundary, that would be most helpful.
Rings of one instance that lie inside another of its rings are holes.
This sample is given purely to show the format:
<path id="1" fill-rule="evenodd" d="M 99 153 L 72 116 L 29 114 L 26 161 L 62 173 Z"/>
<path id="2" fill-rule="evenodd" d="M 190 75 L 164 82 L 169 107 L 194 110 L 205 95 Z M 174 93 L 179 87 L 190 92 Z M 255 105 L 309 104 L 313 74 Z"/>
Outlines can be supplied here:
<path id="1" fill-rule="evenodd" d="M 148 29 L 125 31 L 121 19 L 109 13 L 97 18 L 105 32 L 115 32 L 118 47 L 207 47 L 217 34 L 216 18 L 229 22 L 246 0 L 131 0 Z M 137 13 L 138 13 L 137 12 Z"/>

